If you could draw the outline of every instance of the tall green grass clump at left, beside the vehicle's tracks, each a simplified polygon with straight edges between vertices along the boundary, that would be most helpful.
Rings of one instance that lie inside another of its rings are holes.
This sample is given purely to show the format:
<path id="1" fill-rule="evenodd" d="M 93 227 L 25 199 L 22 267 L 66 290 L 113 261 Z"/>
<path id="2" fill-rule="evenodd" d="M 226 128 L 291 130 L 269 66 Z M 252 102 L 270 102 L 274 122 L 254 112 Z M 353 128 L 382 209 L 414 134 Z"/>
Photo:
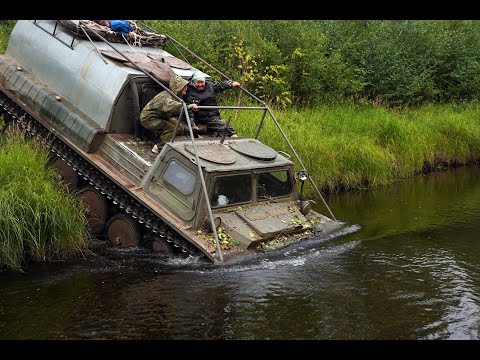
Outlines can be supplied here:
<path id="1" fill-rule="evenodd" d="M 0 140 L 0 269 L 65 260 L 87 249 L 80 199 L 48 166 L 48 150 L 20 136 Z"/>

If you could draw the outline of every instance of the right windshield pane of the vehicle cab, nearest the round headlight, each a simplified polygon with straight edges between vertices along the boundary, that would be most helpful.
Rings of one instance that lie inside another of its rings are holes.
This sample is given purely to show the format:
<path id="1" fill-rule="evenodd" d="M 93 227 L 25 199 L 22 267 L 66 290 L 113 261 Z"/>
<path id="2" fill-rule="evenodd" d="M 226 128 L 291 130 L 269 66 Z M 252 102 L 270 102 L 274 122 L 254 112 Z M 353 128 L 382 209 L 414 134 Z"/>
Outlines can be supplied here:
<path id="1" fill-rule="evenodd" d="M 290 195 L 292 186 L 288 170 L 259 173 L 257 178 L 258 200 Z"/>

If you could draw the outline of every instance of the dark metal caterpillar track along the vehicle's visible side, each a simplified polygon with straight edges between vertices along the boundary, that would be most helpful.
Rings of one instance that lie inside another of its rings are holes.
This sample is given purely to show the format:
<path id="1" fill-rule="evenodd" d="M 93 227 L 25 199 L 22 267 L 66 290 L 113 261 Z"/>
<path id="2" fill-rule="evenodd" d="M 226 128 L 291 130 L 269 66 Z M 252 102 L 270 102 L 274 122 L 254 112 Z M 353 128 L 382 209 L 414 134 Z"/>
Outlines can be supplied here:
<path id="1" fill-rule="evenodd" d="M 40 122 L 29 115 L 17 103 L 0 92 L 0 115 L 5 117 L 5 124 L 15 124 L 27 136 L 35 137 L 50 149 L 57 157 L 61 157 L 80 177 L 104 195 L 110 205 L 117 206 L 135 219 L 143 229 L 143 241 L 166 241 L 173 245 L 176 253 L 196 258 L 205 255 L 183 239 L 155 214 L 131 198 L 113 181 L 84 160 L 63 141 L 55 137 Z"/>

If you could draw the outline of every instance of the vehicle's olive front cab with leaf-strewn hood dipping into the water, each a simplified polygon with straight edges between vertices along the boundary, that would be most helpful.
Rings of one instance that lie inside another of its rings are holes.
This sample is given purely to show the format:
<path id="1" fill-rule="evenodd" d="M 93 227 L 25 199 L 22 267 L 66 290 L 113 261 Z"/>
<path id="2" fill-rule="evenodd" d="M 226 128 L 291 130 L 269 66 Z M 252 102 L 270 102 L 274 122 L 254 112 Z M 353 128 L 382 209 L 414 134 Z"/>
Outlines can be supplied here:
<path id="1" fill-rule="evenodd" d="M 296 174 L 285 153 L 254 138 L 201 139 L 195 147 L 186 140 L 167 143 L 144 189 L 182 218 L 213 259 L 275 249 L 342 226 L 302 199 L 297 183 L 308 175 Z"/>

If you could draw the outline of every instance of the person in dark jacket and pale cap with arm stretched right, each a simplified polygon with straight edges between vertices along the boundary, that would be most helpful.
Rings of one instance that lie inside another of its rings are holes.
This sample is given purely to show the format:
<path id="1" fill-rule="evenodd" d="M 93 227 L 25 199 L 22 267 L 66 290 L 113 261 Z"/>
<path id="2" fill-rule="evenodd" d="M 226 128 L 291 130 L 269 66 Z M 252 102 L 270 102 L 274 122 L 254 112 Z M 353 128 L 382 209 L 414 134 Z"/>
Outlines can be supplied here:
<path id="1" fill-rule="evenodd" d="M 190 78 L 184 99 L 187 104 L 218 106 L 215 94 L 239 86 L 240 83 L 237 81 L 205 81 L 205 75 L 196 71 Z M 227 122 L 222 119 L 218 109 L 198 109 L 195 114 L 189 114 L 193 116 L 196 125 L 206 125 L 208 133 L 213 136 L 223 136 L 223 132 L 227 128 Z M 227 136 L 237 136 L 235 129 L 230 124 L 228 124 Z"/>

